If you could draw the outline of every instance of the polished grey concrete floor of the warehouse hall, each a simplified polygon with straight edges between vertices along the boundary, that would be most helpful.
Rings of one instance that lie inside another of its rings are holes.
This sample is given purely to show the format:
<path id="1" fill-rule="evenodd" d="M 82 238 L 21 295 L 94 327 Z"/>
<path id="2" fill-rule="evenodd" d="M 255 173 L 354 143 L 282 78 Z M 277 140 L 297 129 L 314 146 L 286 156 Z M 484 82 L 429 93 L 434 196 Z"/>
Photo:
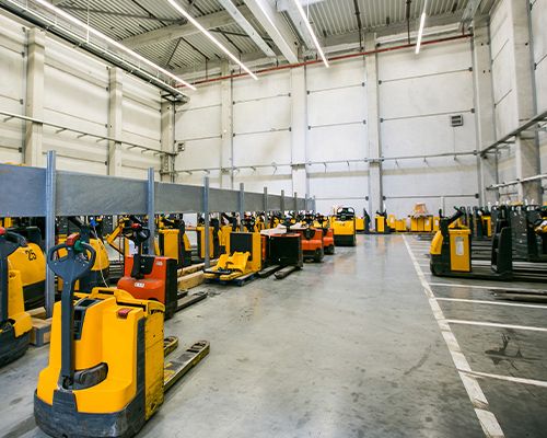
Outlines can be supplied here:
<path id="1" fill-rule="evenodd" d="M 546 436 L 547 307 L 489 304 L 478 283 L 431 278 L 426 246 L 410 235 L 359 237 L 357 247 L 284 280 L 203 286 L 209 298 L 165 333 L 182 345 L 208 339 L 211 353 L 140 436 L 484 437 L 432 301 L 456 321 L 450 328 L 470 369 L 485 373 L 476 378 L 481 408 L 504 436 Z M 44 436 L 32 396 L 47 354 L 31 349 L 0 370 L 1 436 Z"/>

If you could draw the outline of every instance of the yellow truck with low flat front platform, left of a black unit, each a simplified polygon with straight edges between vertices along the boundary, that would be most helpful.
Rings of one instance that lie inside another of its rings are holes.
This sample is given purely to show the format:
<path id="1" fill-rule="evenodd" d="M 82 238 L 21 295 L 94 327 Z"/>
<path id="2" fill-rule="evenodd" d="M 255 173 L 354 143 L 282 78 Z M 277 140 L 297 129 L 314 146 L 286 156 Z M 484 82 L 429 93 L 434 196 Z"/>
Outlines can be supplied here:
<path id="1" fill-rule="evenodd" d="M 257 232 L 232 232 L 226 254 L 219 257 L 217 266 L 206 270 L 206 279 L 230 281 L 261 269 L 261 239 Z"/>

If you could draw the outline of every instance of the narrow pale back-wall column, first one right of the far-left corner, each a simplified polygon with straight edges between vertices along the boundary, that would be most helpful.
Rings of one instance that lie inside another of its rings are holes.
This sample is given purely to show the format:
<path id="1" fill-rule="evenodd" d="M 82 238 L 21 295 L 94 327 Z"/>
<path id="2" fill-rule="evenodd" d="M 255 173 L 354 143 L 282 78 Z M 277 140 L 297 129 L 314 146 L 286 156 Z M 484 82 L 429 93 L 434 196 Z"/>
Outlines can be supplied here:
<path id="1" fill-rule="evenodd" d="M 221 62 L 221 76 L 230 74 L 230 64 L 226 60 Z M 220 186 L 222 188 L 234 188 L 233 175 L 233 141 L 234 141 L 234 124 L 233 124 L 233 88 L 232 79 L 226 79 L 221 82 L 221 129 L 222 142 L 220 147 L 220 166 L 229 169 L 228 172 L 221 172 Z"/>

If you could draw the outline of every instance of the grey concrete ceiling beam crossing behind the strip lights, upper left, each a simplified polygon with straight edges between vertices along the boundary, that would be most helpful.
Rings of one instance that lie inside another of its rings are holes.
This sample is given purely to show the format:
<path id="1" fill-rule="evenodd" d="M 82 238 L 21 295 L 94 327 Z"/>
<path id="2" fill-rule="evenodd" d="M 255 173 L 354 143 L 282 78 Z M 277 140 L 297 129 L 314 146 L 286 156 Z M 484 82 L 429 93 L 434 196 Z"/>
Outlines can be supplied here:
<path id="1" fill-rule="evenodd" d="M 252 16 L 251 11 L 245 7 L 240 7 L 238 11 L 243 16 Z M 211 30 L 216 27 L 226 26 L 233 23 L 232 15 L 226 11 L 216 12 L 209 15 L 198 16 L 196 21 L 205 28 Z M 193 24 L 171 24 L 165 27 L 156 28 L 154 31 L 144 32 L 139 35 L 130 36 L 121 41 L 124 45 L 131 49 L 149 46 L 156 43 L 184 38 L 190 35 L 199 34 L 199 30 Z"/>

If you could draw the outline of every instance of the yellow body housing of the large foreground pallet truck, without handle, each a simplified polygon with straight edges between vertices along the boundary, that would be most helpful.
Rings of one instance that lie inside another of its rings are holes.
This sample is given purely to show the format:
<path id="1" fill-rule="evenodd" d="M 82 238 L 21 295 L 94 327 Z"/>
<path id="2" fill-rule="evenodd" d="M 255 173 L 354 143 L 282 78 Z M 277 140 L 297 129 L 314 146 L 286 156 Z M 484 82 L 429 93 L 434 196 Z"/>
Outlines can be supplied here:
<path id="1" fill-rule="evenodd" d="M 77 293 L 75 298 L 74 368 L 107 365 L 103 381 L 73 390 L 78 413 L 119 413 L 140 405 L 146 412 L 143 419 L 150 418 L 163 403 L 164 306 L 136 300 L 115 288 L 94 288 L 90 295 Z M 54 307 L 49 364 L 39 373 L 36 390 L 36 397 L 46 405 L 54 404 L 60 368 L 59 301 Z"/>

